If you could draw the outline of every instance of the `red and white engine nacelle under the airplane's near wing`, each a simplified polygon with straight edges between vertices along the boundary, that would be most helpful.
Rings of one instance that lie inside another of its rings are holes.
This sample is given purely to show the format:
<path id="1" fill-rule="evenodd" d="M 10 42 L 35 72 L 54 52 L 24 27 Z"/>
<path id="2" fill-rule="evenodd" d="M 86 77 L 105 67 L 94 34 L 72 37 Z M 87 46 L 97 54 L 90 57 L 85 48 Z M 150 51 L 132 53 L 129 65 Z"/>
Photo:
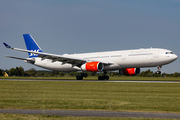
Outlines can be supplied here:
<path id="1" fill-rule="evenodd" d="M 83 64 L 81 69 L 89 72 L 101 72 L 104 69 L 104 64 L 99 61 L 88 62 Z"/>

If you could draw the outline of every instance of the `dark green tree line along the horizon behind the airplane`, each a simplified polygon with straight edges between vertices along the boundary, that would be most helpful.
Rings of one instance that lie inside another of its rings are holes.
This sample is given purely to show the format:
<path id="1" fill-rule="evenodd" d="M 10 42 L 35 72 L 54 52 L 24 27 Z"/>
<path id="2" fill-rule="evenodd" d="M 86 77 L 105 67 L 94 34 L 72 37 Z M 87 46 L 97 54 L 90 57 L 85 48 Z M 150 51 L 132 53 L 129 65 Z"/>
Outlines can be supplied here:
<path id="1" fill-rule="evenodd" d="M 9 76 L 24 76 L 24 77 L 64 77 L 64 76 L 77 76 L 80 74 L 80 72 L 58 72 L 58 71 L 46 71 L 46 70 L 36 70 L 34 68 L 31 68 L 29 70 L 24 70 L 24 68 L 16 67 L 11 68 L 9 70 L 2 70 L 0 69 L 0 76 L 3 76 L 5 72 Z M 88 76 L 101 76 L 102 73 L 99 72 L 87 72 Z M 108 76 L 123 76 L 120 75 L 118 71 L 108 72 Z M 156 74 L 151 70 L 142 71 L 138 76 L 140 77 L 180 77 L 180 73 L 175 72 L 171 74 L 162 73 L 162 74 Z"/>

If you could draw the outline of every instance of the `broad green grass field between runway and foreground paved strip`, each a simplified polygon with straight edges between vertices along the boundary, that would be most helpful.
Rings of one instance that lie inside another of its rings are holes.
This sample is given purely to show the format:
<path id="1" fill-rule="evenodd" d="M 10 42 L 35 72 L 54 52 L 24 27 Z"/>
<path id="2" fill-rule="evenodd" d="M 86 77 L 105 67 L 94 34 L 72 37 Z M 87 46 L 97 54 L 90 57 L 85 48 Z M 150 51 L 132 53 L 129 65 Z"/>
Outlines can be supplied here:
<path id="1" fill-rule="evenodd" d="M 180 84 L 0 81 L 0 109 L 180 113 Z"/>

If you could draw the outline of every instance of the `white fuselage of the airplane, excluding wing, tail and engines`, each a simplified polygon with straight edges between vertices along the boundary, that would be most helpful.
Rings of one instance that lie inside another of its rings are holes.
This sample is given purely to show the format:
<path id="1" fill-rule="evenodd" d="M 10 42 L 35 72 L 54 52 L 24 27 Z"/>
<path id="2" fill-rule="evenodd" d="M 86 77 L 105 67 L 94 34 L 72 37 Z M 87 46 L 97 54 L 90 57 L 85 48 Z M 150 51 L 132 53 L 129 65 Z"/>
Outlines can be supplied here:
<path id="1" fill-rule="evenodd" d="M 71 58 L 86 59 L 88 61 L 103 61 L 110 63 L 104 65 L 104 71 L 119 70 L 124 68 L 157 67 L 169 64 L 177 59 L 177 55 L 170 50 L 150 48 L 107 52 L 93 52 L 82 54 L 63 55 Z M 50 59 L 35 58 L 34 65 L 56 71 L 81 71 L 80 67 L 62 62 L 52 62 Z"/>

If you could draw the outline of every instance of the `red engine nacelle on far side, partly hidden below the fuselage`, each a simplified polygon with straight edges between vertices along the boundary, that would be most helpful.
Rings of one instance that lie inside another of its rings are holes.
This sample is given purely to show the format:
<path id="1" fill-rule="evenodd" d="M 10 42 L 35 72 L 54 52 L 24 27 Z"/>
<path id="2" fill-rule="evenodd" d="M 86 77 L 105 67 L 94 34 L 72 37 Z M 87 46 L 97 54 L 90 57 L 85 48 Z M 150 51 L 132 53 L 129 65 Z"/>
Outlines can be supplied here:
<path id="1" fill-rule="evenodd" d="M 140 72 L 141 72 L 140 68 L 126 68 L 119 70 L 120 75 L 128 75 L 128 76 L 139 75 Z"/>

